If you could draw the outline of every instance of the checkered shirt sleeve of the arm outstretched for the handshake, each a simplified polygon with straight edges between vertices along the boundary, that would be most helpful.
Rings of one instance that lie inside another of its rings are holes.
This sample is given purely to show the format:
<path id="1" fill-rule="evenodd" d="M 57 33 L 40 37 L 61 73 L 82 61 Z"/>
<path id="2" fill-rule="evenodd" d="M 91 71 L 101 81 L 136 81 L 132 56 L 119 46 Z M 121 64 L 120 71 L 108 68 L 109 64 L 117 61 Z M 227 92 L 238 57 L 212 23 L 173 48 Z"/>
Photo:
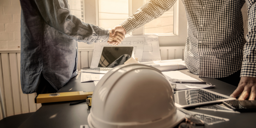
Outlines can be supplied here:
<path id="1" fill-rule="evenodd" d="M 150 0 L 120 25 L 125 28 L 126 34 L 128 34 L 163 15 L 164 12 L 171 9 L 176 1 L 177 0 Z"/>

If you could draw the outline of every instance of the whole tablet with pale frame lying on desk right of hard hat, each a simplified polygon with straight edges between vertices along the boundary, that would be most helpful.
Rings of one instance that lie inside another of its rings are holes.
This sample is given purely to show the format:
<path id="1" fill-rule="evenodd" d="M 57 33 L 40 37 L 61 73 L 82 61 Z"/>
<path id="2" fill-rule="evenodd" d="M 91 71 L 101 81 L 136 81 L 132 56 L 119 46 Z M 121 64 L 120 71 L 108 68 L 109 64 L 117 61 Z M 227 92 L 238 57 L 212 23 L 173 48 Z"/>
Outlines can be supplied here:
<path id="1" fill-rule="evenodd" d="M 236 99 L 203 88 L 176 91 L 174 92 L 174 98 L 175 105 L 179 108 L 207 105 Z"/>

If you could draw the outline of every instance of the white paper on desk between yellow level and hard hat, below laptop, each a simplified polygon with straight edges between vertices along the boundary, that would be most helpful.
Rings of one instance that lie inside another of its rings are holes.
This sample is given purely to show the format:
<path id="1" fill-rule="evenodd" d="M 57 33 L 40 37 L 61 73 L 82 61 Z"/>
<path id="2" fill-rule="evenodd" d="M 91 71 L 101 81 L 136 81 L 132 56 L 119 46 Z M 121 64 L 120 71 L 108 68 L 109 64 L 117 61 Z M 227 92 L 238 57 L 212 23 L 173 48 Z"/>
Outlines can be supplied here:
<path id="1" fill-rule="evenodd" d="M 81 73 L 81 83 L 87 81 L 99 81 L 105 74 L 98 73 Z"/>

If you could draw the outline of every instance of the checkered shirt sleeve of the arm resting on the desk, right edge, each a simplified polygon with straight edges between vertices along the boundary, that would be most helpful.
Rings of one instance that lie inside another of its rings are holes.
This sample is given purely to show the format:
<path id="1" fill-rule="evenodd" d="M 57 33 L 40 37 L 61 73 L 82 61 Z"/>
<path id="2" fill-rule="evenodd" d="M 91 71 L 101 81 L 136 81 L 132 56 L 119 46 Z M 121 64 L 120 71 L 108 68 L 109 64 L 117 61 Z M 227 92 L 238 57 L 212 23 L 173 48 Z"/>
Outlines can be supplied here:
<path id="1" fill-rule="evenodd" d="M 256 0 L 247 0 L 248 33 L 240 76 L 256 77 Z"/>

